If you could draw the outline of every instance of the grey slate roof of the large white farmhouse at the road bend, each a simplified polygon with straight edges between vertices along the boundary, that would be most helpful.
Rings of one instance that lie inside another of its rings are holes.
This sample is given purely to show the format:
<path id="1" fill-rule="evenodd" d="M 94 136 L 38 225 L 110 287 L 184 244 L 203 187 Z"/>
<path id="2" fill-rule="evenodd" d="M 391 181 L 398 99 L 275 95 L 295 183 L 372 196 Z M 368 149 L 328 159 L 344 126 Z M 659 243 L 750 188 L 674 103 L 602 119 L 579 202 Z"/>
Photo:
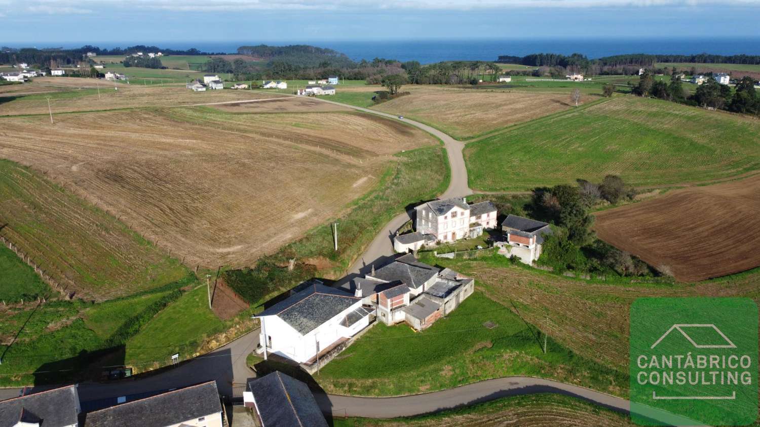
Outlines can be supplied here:
<path id="1" fill-rule="evenodd" d="M 360 299 L 343 289 L 315 284 L 277 302 L 256 317 L 277 316 L 299 334 L 306 335 Z"/>

